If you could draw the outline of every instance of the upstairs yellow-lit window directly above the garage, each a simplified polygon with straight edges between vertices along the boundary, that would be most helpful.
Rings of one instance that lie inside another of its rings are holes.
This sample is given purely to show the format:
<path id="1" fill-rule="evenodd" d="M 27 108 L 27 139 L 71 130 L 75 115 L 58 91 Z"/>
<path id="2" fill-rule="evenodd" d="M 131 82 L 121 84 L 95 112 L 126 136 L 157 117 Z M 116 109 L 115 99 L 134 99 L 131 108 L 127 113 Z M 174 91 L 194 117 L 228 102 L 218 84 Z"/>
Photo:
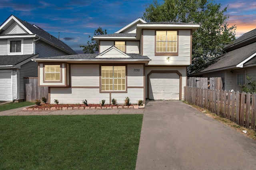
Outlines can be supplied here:
<path id="1" fill-rule="evenodd" d="M 178 31 L 156 31 L 155 55 L 178 55 Z"/>

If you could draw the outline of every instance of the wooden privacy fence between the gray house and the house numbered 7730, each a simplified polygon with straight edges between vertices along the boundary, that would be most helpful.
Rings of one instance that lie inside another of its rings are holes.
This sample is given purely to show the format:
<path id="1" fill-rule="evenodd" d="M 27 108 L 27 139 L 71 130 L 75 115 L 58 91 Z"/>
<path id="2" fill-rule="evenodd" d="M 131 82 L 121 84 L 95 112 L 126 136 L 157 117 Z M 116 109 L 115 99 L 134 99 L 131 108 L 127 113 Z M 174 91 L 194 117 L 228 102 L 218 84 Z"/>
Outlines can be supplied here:
<path id="1" fill-rule="evenodd" d="M 37 77 L 24 78 L 24 87 L 25 101 L 35 102 L 36 99 L 41 100 L 42 97 L 48 99 L 48 87 L 39 87 Z"/>

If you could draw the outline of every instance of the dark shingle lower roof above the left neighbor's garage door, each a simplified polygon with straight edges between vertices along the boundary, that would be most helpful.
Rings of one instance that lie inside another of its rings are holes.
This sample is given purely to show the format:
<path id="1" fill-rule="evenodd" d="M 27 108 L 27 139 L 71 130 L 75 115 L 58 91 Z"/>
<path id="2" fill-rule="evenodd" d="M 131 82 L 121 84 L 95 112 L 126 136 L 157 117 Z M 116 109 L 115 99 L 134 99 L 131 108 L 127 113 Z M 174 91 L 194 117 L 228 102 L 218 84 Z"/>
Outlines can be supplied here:
<path id="1" fill-rule="evenodd" d="M 30 57 L 37 55 L 1 55 L 0 56 L 0 65 L 16 65 L 22 61 L 25 61 L 26 59 L 29 59 Z"/>

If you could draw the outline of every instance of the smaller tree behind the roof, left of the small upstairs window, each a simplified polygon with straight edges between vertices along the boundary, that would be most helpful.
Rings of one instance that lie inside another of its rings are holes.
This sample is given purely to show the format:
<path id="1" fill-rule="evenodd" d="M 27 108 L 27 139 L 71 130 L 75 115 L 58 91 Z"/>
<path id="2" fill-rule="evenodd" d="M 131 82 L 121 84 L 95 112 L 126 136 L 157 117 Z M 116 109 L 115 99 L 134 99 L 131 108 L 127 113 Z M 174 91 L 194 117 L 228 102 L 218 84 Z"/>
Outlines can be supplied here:
<path id="1" fill-rule="evenodd" d="M 98 27 L 98 29 L 96 29 L 94 31 L 94 35 L 103 35 L 103 34 L 107 34 L 107 30 L 106 29 L 103 30 L 102 27 Z M 99 52 L 98 43 L 90 35 L 88 37 L 91 38 L 91 41 L 87 41 L 87 45 L 81 45 L 80 46 L 80 47 L 84 48 L 83 49 L 84 54 L 98 53 Z"/>

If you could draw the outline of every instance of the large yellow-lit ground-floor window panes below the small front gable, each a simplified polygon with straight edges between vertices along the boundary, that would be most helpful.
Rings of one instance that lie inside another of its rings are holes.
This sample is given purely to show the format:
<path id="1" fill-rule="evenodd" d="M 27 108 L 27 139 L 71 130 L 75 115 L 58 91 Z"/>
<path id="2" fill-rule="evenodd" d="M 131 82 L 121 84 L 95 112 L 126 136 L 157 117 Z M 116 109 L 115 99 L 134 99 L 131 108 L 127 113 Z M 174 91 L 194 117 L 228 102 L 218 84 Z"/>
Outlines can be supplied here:
<path id="1" fill-rule="evenodd" d="M 125 91 L 126 66 L 101 66 L 101 91 Z"/>

